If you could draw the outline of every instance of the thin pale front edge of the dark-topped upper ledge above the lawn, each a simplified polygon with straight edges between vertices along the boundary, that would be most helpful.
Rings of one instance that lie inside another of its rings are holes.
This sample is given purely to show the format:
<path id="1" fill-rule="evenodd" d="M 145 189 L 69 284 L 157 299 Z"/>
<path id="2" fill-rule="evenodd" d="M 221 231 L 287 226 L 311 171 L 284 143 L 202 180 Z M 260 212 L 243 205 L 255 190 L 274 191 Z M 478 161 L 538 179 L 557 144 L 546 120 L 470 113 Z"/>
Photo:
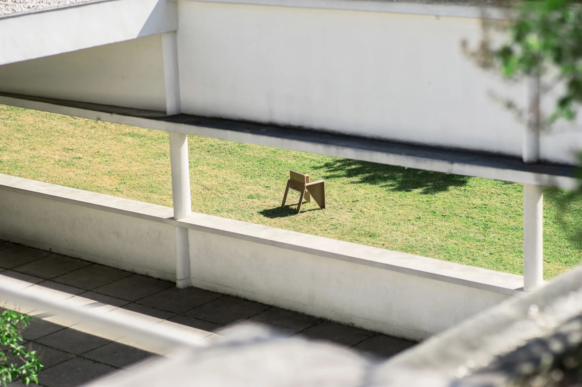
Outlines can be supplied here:
<path id="1" fill-rule="evenodd" d="M 382 163 L 392 166 L 423 169 L 441 173 L 452 173 L 464 176 L 490 178 L 494 180 L 512 181 L 521 184 L 546 185 L 565 189 L 575 189 L 579 186 L 579 182 L 576 180 L 576 178 L 572 177 L 553 176 L 548 174 L 538 174 L 527 171 L 500 169 L 495 167 L 478 166 L 464 163 L 453 163 L 445 160 L 427 159 L 424 157 L 395 155 L 393 153 L 382 153 L 374 150 L 354 149 L 347 148 L 346 146 L 318 144 L 315 142 L 300 141 L 295 139 L 277 138 L 267 135 L 172 123 L 144 117 L 125 116 L 122 114 L 99 112 L 97 110 L 81 109 L 80 107 L 55 105 L 53 103 L 32 101 L 30 99 L 15 98 L 12 96 L 0 95 L 0 103 L 11 106 L 24 107 L 26 109 L 35 109 L 42 110 L 44 112 L 83 117 L 89 120 L 107 121 L 122 125 L 150 128 L 168 132 L 179 132 L 190 135 L 224 139 L 228 141 L 243 142 L 246 144 L 299 150 L 300 152 L 345 157 L 347 159 Z"/>

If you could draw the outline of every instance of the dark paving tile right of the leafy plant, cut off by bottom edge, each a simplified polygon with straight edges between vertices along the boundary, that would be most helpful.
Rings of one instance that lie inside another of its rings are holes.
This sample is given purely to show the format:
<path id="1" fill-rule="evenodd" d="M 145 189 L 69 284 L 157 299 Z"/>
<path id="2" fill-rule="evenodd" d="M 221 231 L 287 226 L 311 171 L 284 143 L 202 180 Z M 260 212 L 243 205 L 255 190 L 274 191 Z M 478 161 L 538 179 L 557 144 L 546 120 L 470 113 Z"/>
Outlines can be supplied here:
<path id="1" fill-rule="evenodd" d="M 41 371 L 38 381 L 48 387 L 77 387 L 112 371 L 115 371 L 115 368 L 111 366 L 74 357 L 65 363 Z"/>

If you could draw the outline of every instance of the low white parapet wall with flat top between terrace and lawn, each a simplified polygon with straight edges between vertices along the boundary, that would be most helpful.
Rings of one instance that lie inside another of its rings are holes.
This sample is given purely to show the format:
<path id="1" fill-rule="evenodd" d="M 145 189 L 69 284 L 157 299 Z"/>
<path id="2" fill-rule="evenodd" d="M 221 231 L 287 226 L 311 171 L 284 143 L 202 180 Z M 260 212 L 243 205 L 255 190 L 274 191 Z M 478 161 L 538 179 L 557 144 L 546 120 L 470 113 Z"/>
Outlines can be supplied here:
<path id="1" fill-rule="evenodd" d="M 194 286 L 409 339 L 521 293 L 523 278 L 0 174 L 0 238 L 175 279 L 189 229 Z"/>

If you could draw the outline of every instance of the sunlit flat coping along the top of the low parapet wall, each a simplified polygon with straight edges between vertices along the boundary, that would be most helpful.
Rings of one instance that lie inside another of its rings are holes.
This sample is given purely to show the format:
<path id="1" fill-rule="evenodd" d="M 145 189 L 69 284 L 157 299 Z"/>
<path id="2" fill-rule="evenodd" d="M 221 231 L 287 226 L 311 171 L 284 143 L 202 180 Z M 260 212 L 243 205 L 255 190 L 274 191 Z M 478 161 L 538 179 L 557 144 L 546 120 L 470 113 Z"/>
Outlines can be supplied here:
<path id="1" fill-rule="evenodd" d="M 357 243 L 336 241 L 322 236 L 302 234 L 239 220 L 196 213 L 188 218 L 176 221 L 173 218 L 158 217 L 144 213 L 145 210 L 140 212 L 140 206 L 136 206 L 136 203 L 140 202 L 135 200 L 116 198 L 102 193 L 92 192 L 91 196 L 104 200 L 98 200 L 101 203 L 90 203 L 83 199 L 74 199 L 76 194 L 84 195 L 87 191 L 10 175 L 0 174 L 0 189 L 506 295 L 513 295 L 519 292 L 519 289 L 523 286 L 523 277 L 520 275 L 501 273 L 402 252 L 393 252 L 372 246 L 358 245 Z M 61 195 L 56 195 L 55 191 L 57 190 Z M 53 192 L 48 193 L 46 191 Z M 66 197 L 62 196 L 65 192 Z M 110 199 L 115 199 L 115 207 L 104 204 Z M 130 209 L 123 209 L 123 203 L 126 203 Z M 168 211 L 171 210 L 168 207 L 157 207 L 166 208 Z M 301 244 L 296 241 L 301 241 Z M 350 254 L 346 254 L 346 251 L 350 252 Z"/>

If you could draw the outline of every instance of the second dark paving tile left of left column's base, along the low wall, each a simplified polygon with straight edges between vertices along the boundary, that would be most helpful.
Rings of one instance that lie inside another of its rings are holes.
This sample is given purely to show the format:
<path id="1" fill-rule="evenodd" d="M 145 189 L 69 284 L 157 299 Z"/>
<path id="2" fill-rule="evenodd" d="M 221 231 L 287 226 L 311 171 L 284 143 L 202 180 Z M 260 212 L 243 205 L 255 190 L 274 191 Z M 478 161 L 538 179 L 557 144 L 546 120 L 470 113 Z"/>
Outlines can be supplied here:
<path id="1" fill-rule="evenodd" d="M 52 280 L 76 288 L 93 290 L 99 286 L 109 284 L 109 282 L 132 275 L 129 271 L 119 270 L 118 268 L 91 264 L 71 271 L 70 273 L 59 275 Z"/>

